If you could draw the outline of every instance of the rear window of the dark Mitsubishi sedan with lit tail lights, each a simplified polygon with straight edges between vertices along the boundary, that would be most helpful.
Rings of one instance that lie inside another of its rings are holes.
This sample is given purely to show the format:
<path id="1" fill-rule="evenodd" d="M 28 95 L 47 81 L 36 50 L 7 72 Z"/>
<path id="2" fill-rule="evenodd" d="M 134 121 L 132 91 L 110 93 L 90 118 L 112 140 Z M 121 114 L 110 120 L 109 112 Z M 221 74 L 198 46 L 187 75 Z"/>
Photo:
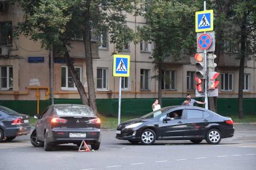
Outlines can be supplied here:
<path id="1" fill-rule="evenodd" d="M 89 106 L 67 106 L 55 109 L 57 115 L 72 117 L 95 117 L 96 115 Z"/>

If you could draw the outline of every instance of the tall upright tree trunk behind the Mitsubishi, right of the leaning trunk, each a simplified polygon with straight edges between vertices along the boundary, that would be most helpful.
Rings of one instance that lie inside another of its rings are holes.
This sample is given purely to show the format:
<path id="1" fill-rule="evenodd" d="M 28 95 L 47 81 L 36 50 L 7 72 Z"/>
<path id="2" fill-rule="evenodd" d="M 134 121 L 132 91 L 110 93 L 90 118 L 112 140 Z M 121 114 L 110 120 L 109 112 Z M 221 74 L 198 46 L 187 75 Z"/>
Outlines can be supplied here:
<path id="1" fill-rule="evenodd" d="M 98 114 L 96 105 L 95 86 L 93 79 L 92 46 L 90 43 L 90 1 L 86 1 L 87 10 L 84 13 L 83 42 L 86 53 L 86 76 L 88 84 L 89 105 Z"/>

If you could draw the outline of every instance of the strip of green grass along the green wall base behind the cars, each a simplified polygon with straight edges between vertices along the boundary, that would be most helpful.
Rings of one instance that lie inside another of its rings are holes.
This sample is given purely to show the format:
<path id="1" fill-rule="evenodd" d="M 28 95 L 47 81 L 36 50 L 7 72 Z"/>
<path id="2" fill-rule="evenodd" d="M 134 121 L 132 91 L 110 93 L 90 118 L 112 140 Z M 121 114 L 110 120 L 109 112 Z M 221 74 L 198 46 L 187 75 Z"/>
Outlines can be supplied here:
<path id="1" fill-rule="evenodd" d="M 140 116 L 130 116 L 130 117 L 121 117 L 121 123 L 127 120 L 131 120 L 133 118 L 139 118 Z M 245 115 L 245 118 L 242 120 L 238 118 L 237 115 L 228 115 L 227 117 L 231 117 L 234 123 L 250 123 L 256 122 L 255 115 Z M 117 127 L 117 117 L 99 117 L 101 119 L 101 128 L 102 129 L 116 129 Z M 37 119 L 34 117 L 30 117 L 30 124 L 34 126 L 37 123 Z"/>

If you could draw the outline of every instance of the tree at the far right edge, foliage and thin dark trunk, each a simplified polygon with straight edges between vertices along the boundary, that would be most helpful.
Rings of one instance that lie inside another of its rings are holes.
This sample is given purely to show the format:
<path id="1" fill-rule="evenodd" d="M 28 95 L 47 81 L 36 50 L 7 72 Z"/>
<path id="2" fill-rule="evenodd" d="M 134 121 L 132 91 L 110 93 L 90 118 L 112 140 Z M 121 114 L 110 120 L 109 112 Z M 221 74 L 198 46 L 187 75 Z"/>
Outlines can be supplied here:
<path id="1" fill-rule="evenodd" d="M 237 0 L 232 7 L 233 37 L 239 38 L 240 67 L 239 67 L 239 118 L 243 118 L 243 82 L 245 58 L 255 57 L 256 41 L 256 1 Z"/>

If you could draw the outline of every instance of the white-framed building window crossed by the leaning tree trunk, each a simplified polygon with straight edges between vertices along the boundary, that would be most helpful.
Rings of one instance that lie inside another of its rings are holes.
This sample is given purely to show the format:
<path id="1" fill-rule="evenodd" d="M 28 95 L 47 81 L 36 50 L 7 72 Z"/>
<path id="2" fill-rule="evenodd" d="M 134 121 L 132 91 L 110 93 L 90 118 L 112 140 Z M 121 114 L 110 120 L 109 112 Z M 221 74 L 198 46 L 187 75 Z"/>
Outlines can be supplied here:
<path id="1" fill-rule="evenodd" d="M 81 81 L 81 67 L 75 67 L 76 75 Z M 73 82 L 73 78 L 67 66 L 61 66 L 61 90 L 76 90 L 75 82 Z"/>

